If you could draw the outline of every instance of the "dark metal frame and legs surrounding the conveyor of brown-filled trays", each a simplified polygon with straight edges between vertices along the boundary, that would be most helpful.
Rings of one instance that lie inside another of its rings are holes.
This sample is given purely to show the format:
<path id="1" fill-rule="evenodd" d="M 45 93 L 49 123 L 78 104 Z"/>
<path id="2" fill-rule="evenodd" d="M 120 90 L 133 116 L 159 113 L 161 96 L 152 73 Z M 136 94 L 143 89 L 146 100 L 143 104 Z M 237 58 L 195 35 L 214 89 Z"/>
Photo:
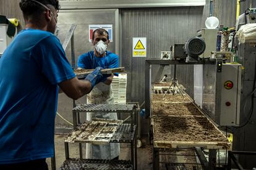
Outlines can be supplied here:
<path id="1" fill-rule="evenodd" d="M 221 59 L 206 59 L 200 60 L 199 62 L 186 63 L 179 62 L 178 60 L 160 60 L 160 59 L 146 59 L 145 60 L 145 118 L 150 118 L 151 108 L 150 108 L 150 96 L 151 96 L 151 65 L 216 65 L 218 72 L 221 72 L 222 63 Z M 175 67 L 174 67 L 175 68 Z M 221 76 L 221 74 L 219 74 Z M 217 88 L 217 87 L 216 87 Z M 153 169 L 159 169 L 159 149 L 153 148 Z M 209 150 L 209 158 L 207 161 L 203 152 L 200 148 L 196 149 L 200 163 L 205 169 L 215 169 L 216 167 L 216 149 Z"/>

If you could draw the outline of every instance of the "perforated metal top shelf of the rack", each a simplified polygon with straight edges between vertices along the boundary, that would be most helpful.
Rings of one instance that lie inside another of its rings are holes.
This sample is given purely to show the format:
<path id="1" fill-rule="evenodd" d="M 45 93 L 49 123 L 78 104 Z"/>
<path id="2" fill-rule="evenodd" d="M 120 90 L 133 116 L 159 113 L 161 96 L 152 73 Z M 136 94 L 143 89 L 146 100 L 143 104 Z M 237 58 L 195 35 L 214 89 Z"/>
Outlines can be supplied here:
<path id="1" fill-rule="evenodd" d="M 105 112 L 132 112 L 135 105 L 132 104 L 77 104 L 77 106 L 73 109 L 75 111 L 105 111 Z"/>

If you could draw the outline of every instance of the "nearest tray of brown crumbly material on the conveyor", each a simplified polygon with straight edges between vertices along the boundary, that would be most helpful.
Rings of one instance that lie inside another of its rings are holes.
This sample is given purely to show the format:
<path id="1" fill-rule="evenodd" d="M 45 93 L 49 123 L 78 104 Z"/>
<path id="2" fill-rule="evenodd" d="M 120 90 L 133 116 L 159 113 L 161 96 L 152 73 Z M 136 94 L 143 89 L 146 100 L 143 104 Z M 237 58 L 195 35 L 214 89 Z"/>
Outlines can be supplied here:
<path id="1" fill-rule="evenodd" d="M 229 148 L 226 137 L 203 116 L 153 116 L 155 147 Z"/>

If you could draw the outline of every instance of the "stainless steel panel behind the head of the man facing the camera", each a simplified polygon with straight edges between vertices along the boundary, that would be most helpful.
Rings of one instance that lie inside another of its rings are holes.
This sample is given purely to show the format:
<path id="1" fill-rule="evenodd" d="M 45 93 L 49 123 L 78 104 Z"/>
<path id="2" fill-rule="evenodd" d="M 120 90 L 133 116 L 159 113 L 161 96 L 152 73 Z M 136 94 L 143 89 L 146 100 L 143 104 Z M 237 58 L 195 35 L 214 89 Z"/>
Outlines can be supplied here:
<path id="1" fill-rule="evenodd" d="M 74 31 L 75 47 L 75 67 L 79 55 L 93 49 L 92 42 L 88 38 L 88 25 L 90 24 L 112 24 L 113 25 L 113 42 L 109 43 L 108 50 L 118 54 L 119 46 L 119 15 L 118 9 L 95 9 L 95 10 L 60 10 L 58 16 L 58 25 L 60 28 L 59 39 L 64 42 L 66 34 L 72 24 L 77 27 Z M 71 63 L 71 46 L 67 44 L 66 55 Z M 77 103 L 86 103 L 86 97 L 81 97 Z M 65 94 L 59 94 L 58 112 L 69 121 L 72 120 L 72 100 Z M 85 115 L 81 114 L 81 122 L 85 120 Z M 56 127 L 68 127 L 67 124 L 56 117 Z"/>

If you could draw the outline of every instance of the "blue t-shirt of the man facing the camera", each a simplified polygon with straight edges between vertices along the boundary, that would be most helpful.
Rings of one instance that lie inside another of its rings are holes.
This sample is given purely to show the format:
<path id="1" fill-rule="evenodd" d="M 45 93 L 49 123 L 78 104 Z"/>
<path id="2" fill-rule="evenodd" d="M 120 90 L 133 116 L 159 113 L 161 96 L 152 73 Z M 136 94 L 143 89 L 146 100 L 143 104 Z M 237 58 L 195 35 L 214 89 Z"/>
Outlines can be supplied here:
<path id="1" fill-rule="evenodd" d="M 117 68 L 119 67 L 119 57 L 109 51 L 106 51 L 104 57 L 96 57 L 94 51 L 90 51 L 79 56 L 77 67 L 85 69 L 95 69 L 96 67 Z M 114 73 L 114 75 L 118 76 L 118 73 Z"/>

